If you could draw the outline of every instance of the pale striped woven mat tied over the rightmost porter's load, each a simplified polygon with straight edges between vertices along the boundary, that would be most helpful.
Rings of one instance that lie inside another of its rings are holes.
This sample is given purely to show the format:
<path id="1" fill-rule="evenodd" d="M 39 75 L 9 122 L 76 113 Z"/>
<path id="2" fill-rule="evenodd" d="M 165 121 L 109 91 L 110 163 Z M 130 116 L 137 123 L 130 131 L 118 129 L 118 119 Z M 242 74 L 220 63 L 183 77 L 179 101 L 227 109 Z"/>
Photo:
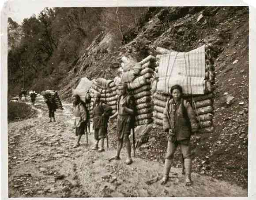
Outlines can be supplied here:
<path id="1" fill-rule="evenodd" d="M 157 91 L 169 93 L 179 84 L 184 94 L 203 93 L 205 77 L 205 45 L 189 52 L 171 52 L 159 56 Z"/>

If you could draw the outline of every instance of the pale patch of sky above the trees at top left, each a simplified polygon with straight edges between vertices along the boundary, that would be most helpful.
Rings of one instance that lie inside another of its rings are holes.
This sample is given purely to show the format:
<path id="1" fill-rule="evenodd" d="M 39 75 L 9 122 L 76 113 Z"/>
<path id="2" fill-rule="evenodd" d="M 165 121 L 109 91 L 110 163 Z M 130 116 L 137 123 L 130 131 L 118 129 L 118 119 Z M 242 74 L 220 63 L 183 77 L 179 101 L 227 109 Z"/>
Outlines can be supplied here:
<path id="1" fill-rule="evenodd" d="M 32 15 L 38 15 L 45 7 L 49 7 L 49 2 L 43 3 L 40 1 L 38 4 L 37 1 L 26 0 L 10 0 L 8 1 L 8 17 L 11 17 L 13 21 L 18 24 L 22 24 L 24 18 L 30 18 Z"/>

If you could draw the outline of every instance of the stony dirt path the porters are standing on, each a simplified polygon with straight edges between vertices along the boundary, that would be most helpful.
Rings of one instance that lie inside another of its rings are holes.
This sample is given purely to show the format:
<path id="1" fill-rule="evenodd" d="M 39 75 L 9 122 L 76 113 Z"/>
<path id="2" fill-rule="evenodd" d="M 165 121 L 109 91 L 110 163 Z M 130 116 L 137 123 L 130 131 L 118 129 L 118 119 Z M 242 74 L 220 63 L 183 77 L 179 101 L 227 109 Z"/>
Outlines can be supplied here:
<path id="1" fill-rule="evenodd" d="M 184 186 L 181 169 L 172 168 L 169 182 L 160 185 L 163 164 L 134 159 L 127 166 L 125 149 L 121 160 L 108 161 L 115 149 L 91 150 L 93 135 L 76 149 L 72 128 L 72 105 L 56 112 L 48 123 L 41 96 L 37 118 L 8 124 L 9 197 L 146 197 L 146 196 L 247 196 L 236 185 L 192 173 L 194 184 Z"/>

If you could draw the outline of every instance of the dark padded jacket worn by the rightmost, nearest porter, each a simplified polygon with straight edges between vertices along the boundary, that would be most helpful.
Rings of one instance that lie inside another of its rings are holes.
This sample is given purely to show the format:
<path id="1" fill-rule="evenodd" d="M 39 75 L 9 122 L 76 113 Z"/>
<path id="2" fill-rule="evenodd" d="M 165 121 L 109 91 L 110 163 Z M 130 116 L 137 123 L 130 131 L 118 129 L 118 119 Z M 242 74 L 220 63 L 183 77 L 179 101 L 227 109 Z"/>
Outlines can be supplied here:
<path id="1" fill-rule="evenodd" d="M 190 139 L 191 131 L 196 131 L 199 125 L 190 103 L 183 98 L 177 104 L 168 99 L 163 115 L 163 129 L 171 129 L 177 141 Z"/>

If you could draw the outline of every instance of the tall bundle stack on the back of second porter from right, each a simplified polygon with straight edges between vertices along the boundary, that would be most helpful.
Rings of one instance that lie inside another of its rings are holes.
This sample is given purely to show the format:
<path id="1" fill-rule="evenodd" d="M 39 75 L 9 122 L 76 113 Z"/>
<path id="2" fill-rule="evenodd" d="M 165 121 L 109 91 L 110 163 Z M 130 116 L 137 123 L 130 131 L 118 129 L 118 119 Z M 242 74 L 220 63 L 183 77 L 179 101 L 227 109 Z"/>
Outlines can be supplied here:
<path id="1" fill-rule="evenodd" d="M 128 83 L 128 92 L 135 98 L 135 125 L 150 124 L 153 121 L 151 78 L 154 75 L 155 57 L 150 55 L 138 63 L 126 57 L 122 57 L 121 60 L 120 71 L 123 71 L 121 82 Z"/>

